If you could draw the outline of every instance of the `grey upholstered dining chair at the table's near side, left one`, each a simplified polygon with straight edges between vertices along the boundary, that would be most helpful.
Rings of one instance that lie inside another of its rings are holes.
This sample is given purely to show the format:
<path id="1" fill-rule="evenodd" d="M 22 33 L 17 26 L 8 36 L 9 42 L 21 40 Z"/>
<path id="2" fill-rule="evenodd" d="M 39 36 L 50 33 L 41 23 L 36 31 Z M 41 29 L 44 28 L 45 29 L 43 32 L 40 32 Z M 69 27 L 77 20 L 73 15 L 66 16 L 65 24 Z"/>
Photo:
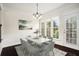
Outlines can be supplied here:
<path id="1" fill-rule="evenodd" d="M 40 49 L 36 46 L 31 45 L 28 41 L 21 40 L 22 49 L 24 50 L 24 55 L 28 56 L 39 56 Z"/>

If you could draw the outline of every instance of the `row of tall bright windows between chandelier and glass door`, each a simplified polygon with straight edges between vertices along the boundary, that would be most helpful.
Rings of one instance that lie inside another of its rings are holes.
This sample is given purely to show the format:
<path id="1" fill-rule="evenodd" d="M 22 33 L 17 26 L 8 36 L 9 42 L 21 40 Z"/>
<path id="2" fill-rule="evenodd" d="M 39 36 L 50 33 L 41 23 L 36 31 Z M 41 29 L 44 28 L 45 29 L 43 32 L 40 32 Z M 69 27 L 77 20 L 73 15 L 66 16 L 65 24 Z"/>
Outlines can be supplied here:
<path id="1" fill-rule="evenodd" d="M 46 27 L 45 27 L 46 26 Z M 59 17 L 45 23 L 41 23 L 41 35 L 48 38 L 59 38 Z"/>

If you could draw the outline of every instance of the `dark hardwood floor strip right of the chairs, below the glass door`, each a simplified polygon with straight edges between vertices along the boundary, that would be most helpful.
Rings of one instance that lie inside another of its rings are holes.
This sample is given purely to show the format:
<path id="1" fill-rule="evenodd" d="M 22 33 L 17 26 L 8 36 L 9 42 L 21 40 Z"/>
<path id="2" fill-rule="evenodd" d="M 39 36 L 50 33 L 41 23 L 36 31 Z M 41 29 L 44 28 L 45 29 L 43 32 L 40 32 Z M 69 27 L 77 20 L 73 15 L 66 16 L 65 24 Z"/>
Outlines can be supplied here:
<path id="1" fill-rule="evenodd" d="M 66 56 L 79 56 L 79 50 L 55 44 L 55 48 L 67 52 Z"/>

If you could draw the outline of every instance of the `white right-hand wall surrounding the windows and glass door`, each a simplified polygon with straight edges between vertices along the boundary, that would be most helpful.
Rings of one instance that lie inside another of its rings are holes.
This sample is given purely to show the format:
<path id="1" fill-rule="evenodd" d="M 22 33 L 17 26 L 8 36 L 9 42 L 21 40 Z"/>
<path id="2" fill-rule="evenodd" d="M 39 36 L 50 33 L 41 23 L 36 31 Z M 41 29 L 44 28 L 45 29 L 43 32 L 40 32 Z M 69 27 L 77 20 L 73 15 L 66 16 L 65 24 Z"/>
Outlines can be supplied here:
<path id="1" fill-rule="evenodd" d="M 79 50 L 79 44 L 72 45 L 66 43 L 66 37 L 65 37 L 65 20 L 64 17 L 69 14 L 79 13 L 79 4 L 64 4 L 63 6 L 56 8 L 54 10 L 51 10 L 43 15 L 42 21 L 51 20 L 53 17 L 59 16 L 60 19 L 60 27 L 59 27 L 59 39 L 54 39 L 56 44 L 60 44 L 66 47 L 74 48 Z M 77 38 L 77 41 L 79 43 L 79 40 Z"/>

